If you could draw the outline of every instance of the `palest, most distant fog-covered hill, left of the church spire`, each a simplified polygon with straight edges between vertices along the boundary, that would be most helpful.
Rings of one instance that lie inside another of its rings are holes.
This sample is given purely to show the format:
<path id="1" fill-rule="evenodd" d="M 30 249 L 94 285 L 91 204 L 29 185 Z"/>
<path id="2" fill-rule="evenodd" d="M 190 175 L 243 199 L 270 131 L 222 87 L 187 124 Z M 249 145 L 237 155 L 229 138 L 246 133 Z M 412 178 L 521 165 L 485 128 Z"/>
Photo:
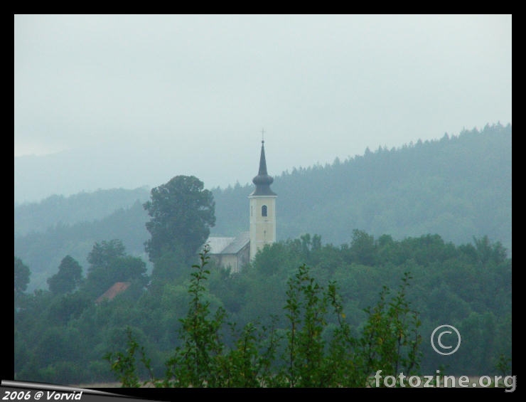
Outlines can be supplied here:
<path id="1" fill-rule="evenodd" d="M 14 201 L 38 202 L 54 194 L 70 196 L 98 189 L 155 187 L 178 174 L 197 176 L 207 187 L 235 184 L 239 178 L 233 168 L 228 171 L 228 166 L 225 169 L 201 166 L 191 152 L 181 159 L 174 158 L 170 149 L 160 147 L 150 152 L 151 147 L 110 143 L 15 157 Z M 257 151 L 257 144 L 254 150 Z M 247 181 L 251 178 L 247 177 Z"/>

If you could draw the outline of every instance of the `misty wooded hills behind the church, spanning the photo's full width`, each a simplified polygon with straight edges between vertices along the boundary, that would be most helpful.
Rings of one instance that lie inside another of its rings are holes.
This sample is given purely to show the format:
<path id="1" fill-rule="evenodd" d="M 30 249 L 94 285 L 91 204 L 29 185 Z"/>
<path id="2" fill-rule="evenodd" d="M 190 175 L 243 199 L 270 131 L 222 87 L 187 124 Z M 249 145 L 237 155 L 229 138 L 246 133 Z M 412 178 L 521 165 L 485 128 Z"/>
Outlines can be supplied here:
<path id="1" fill-rule="evenodd" d="M 511 137 L 511 125 L 487 125 L 274 176 L 278 239 L 311 233 L 340 245 L 355 228 L 399 239 L 436 233 L 456 244 L 488 236 L 511 255 Z M 212 189 L 213 234 L 247 231 L 252 190 Z M 119 238 L 147 261 L 141 203 L 148 198 L 148 189 L 113 189 L 15 206 L 15 255 L 31 268 L 28 290 L 47 287 L 65 255 L 87 266 L 87 253 L 102 240 Z"/>

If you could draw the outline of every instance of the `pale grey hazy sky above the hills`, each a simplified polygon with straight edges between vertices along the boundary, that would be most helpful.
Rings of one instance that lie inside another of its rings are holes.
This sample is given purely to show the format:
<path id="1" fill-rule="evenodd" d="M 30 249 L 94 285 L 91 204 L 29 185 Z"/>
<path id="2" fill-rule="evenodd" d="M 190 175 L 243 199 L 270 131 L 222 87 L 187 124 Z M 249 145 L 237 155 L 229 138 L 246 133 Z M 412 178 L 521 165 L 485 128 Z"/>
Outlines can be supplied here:
<path id="1" fill-rule="evenodd" d="M 15 15 L 15 157 L 112 149 L 124 171 L 141 155 L 169 170 L 138 186 L 195 174 L 210 188 L 257 174 L 262 129 L 276 176 L 505 125 L 511 20 Z"/>

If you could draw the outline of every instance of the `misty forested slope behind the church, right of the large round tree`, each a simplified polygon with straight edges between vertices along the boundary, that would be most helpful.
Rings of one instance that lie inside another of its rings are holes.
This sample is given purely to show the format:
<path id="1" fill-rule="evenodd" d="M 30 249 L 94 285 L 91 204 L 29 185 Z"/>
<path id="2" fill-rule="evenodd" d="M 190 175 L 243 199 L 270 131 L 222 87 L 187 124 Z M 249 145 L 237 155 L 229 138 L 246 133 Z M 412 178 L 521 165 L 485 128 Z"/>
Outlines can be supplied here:
<path id="1" fill-rule="evenodd" d="M 353 228 L 400 239 L 438 233 L 456 244 L 487 235 L 511 251 L 511 145 L 511 125 L 487 125 L 284 172 L 272 184 L 277 236 L 316 233 L 340 245 Z M 214 190 L 214 233 L 246 230 L 251 191 L 248 185 Z"/>

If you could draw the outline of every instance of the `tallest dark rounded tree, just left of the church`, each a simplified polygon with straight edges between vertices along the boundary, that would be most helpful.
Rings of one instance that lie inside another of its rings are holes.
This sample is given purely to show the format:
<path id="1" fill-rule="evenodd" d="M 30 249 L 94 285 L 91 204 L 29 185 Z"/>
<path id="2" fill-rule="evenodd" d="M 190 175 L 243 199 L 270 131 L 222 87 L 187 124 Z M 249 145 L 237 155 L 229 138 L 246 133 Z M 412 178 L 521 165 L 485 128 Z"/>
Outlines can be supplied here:
<path id="1" fill-rule="evenodd" d="M 178 246 L 190 262 L 215 225 L 213 194 L 195 176 L 175 176 L 152 189 L 144 208 L 150 216 L 146 229 L 151 234 L 145 246 L 153 263 Z"/>

